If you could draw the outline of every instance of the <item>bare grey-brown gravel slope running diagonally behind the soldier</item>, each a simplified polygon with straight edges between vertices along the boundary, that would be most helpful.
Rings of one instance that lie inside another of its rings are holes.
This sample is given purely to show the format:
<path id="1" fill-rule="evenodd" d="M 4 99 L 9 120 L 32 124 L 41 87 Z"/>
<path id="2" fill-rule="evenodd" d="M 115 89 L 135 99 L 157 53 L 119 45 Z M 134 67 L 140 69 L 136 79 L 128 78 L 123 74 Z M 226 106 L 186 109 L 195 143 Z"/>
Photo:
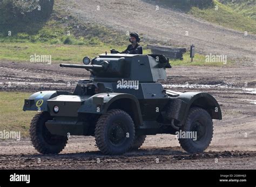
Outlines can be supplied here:
<path id="1" fill-rule="evenodd" d="M 195 44 L 197 52 L 202 54 L 223 54 L 230 59 L 256 57 L 256 37 L 250 35 L 250 32 L 245 36 L 244 32 L 211 24 L 161 4 L 158 4 L 159 10 L 156 10 L 157 4 L 152 2 L 136 1 L 134 4 L 110 0 L 101 2 L 100 10 L 97 10 L 98 2 L 77 0 L 76 6 L 73 6 L 71 0 L 64 2 L 69 5 L 63 9 L 84 23 L 104 25 L 123 35 L 127 31 L 138 31 L 149 41 L 185 47 Z"/>

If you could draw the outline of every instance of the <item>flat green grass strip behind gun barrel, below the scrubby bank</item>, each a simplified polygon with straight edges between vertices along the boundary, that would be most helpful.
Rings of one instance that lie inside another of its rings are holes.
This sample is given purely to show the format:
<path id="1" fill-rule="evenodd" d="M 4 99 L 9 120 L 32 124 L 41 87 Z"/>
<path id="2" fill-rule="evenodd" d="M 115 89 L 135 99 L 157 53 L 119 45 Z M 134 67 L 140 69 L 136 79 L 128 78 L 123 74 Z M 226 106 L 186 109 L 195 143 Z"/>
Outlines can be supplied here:
<path id="1" fill-rule="evenodd" d="M 51 55 L 52 63 L 69 62 L 80 63 L 84 56 L 95 57 L 102 53 L 110 53 L 110 49 L 123 51 L 126 46 L 100 45 L 49 45 L 43 43 L 0 43 L 0 60 L 30 62 L 30 55 Z M 150 53 L 149 49 L 144 54 Z"/>

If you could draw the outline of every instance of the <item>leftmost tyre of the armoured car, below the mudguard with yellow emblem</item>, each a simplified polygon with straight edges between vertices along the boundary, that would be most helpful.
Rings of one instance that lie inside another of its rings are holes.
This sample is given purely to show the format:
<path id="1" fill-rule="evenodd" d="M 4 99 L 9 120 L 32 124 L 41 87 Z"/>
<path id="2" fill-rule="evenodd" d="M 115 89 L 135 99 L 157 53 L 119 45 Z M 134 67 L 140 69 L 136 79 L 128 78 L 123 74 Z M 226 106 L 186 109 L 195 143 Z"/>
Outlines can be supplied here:
<path id="1" fill-rule="evenodd" d="M 38 112 L 30 124 L 30 138 L 33 146 L 41 154 L 56 154 L 61 152 L 68 138 L 51 134 L 45 126 L 45 122 L 52 117 L 48 112 Z"/>

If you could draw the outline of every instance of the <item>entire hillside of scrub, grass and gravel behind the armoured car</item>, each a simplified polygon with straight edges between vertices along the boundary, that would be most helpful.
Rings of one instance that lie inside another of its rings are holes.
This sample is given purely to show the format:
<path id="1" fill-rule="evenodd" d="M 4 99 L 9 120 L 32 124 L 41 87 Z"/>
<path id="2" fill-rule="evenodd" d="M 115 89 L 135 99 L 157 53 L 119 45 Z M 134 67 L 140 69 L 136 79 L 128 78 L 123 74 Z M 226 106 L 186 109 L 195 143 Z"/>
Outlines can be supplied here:
<path id="1" fill-rule="evenodd" d="M 87 51 L 94 55 L 110 48 L 124 49 L 129 37 L 127 32 L 137 31 L 142 37 L 141 44 L 144 48 L 149 43 L 186 48 L 194 44 L 196 52 L 203 55 L 220 54 L 227 55 L 228 60 L 254 62 L 252 59 L 256 58 L 256 37 L 252 33 L 256 31 L 256 21 L 235 12 L 228 5 L 214 2 L 218 5 L 218 10 L 215 10 L 215 5 L 205 8 L 192 6 L 182 10 L 177 6 L 142 0 L 136 3 L 120 0 L 102 1 L 98 9 L 98 2 L 89 0 L 56 0 L 51 17 L 37 26 L 37 31 L 17 32 L 11 37 L 6 37 L 6 33 L 2 33 L 1 47 L 6 51 L 10 46 L 6 48 L 5 43 L 23 42 L 36 43 L 38 45 L 33 45 L 32 48 L 37 49 L 44 43 L 62 45 L 62 48 L 66 48 L 65 51 L 69 51 L 66 46 L 73 45 L 72 52 L 79 53 L 76 46 L 86 46 L 92 47 Z M 158 10 L 156 6 L 159 6 Z M 245 35 L 245 31 L 248 35 Z M 93 49 L 96 46 L 99 47 L 97 51 Z M 48 48 L 52 48 L 52 52 L 55 51 L 55 46 Z M 145 53 L 148 52 L 145 50 Z M 6 53 L 9 54 L 9 51 Z M 77 59 L 62 58 L 62 53 L 58 53 L 60 57 L 57 59 Z M 21 56 L 24 55 L 18 54 L 17 58 Z M 6 59 L 6 56 L 2 57 Z"/>

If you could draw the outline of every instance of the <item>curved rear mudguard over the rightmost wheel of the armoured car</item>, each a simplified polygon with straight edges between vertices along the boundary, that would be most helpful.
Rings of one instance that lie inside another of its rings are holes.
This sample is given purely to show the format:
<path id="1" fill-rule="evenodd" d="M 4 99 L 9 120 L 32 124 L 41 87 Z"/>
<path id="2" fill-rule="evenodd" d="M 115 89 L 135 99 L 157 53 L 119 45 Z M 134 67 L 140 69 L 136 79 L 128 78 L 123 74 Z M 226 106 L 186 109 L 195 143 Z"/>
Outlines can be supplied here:
<path id="1" fill-rule="evenodd" d="M 183 123 L 191 107 L 201 107 L 207 110 L 212 119 L 222 119 L 221 109 L 217 100 L 208 93 L 204 92 L 185 92 L 181 93 L 177 99 L 183 100 L 187 106 L 183 113 Z"/>

